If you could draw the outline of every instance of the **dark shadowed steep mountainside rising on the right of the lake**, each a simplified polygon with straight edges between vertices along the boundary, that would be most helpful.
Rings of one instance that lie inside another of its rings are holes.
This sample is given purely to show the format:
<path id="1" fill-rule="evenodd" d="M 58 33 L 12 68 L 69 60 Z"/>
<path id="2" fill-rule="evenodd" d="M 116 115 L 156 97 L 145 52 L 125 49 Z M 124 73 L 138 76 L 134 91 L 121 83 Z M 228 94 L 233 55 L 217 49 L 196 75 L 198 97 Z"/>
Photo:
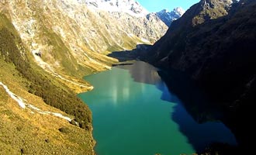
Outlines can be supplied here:
<path id="1" fill-rule="evenodd" d="M 251 113 L 256 102 L 256 2 L 202 0 L 143 57 L 167 71 L 189 74 L 215 104 L 244 151 L 253 149 Z"/>

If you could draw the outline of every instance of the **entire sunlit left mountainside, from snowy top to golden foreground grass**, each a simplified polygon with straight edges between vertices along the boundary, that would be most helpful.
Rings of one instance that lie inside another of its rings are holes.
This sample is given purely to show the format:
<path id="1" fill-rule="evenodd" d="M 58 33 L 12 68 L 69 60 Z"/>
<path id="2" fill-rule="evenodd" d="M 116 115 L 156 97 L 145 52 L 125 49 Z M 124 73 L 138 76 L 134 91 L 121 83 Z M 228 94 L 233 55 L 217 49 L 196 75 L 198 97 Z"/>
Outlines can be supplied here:
<path id="1" fill-rule="evenodd" d="M 133 1 L 0 1 L 0 154 L 95 154 L 81 78 L 167 29 Z"/>

